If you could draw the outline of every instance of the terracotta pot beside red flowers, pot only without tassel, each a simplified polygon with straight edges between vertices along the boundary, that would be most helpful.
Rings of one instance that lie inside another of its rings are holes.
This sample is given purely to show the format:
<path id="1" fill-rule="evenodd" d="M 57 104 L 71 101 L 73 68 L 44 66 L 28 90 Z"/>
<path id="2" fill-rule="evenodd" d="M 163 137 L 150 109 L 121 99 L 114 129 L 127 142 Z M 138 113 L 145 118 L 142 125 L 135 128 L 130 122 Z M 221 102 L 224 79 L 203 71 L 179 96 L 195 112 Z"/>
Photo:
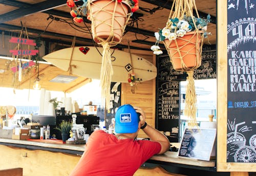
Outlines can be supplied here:
<path id="1" fill-rule="evenodd" d="M 112 0 L 90 1 L 90 20 L 95 42 L 120 42 L 127 20 L 130 18 L 131 6 L 125 1 L 117 3 Z"/>

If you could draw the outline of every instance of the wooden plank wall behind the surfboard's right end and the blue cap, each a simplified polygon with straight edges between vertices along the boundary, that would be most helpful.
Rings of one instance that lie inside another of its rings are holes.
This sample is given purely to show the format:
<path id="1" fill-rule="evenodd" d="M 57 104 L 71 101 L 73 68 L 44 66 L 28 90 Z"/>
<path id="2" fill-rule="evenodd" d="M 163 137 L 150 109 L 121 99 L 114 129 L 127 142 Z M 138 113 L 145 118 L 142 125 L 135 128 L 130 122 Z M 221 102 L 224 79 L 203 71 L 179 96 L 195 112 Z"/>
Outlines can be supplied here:
<path id="1" fill-rule="evenodd" d="M 124 51 L 129 52 L 128 50 Z M 156 65 L 156 57 L 152 51 L 131 50 L 131 53 L 143 57 Z M 146 122 L 155 127 L 156 79 L 136 84 L 135 94 L 131 92 L 129 83 L 122 83 L 121 91 L 121 104 L 141 107 L 146 113 Z M 138 138 L 147 138 L 147 136 L 140 130 Z"/>

